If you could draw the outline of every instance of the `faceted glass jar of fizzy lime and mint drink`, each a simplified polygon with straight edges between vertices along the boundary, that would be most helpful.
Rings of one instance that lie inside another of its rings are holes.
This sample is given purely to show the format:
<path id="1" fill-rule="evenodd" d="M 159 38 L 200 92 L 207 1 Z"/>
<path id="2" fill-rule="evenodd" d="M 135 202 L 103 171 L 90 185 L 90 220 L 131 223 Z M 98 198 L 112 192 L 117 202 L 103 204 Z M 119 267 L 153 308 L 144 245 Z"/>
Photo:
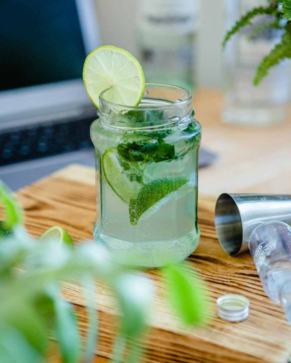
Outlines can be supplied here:
<path id="1" fill-rule="evenodd" d="M 121 264 L 153 268 L 184 260 L 197 247 L 201 126 L 192 94 L 146 84 L 139 106 L 99 98 L 91 125 L 97 218 L 94 239 Z M 108 94 L 107 97 L 108 98 Z"/>

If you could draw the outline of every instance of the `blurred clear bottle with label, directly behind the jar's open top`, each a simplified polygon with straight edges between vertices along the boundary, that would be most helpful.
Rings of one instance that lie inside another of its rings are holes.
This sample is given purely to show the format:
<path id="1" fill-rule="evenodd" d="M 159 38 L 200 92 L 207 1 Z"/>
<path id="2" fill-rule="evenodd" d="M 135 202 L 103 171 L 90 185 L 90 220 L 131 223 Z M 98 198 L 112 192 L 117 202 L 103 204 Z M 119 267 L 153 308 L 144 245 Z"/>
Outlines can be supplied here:
<path id="1" fill-rule="evenodd" d="M 146 82 L 195 89 L 198 0 L 139 0 L 137 49 Z"/>

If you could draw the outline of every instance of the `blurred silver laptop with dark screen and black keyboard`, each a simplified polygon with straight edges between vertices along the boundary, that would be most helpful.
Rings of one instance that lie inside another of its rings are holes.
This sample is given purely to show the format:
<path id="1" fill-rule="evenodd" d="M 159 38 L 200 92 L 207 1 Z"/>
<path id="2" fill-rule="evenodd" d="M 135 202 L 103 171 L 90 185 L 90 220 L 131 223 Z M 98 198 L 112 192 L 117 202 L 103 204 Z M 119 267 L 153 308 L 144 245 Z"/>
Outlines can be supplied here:
<path id="1" fill-rule="evenodd" d="M 93 166 L 97 110 L 82 70 L 101 45 L 94 1 L 1 1 L 0 24 L 0 178 L 15 190 L 71 162 Z"/>

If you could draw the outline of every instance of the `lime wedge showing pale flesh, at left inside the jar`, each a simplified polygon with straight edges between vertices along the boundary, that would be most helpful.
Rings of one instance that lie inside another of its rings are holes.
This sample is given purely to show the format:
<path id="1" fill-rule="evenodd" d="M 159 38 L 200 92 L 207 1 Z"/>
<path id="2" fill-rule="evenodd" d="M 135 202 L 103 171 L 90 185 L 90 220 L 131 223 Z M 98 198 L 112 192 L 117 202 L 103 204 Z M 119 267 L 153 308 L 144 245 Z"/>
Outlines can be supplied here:
<path id="1" fill-rule="evenodd" d="M 108 184 L 113 191 L 127 204 L 136 196 L 141 185 L 130 181 L 112 151 L 106 150 L 101 158 L 102 169 Z"/>

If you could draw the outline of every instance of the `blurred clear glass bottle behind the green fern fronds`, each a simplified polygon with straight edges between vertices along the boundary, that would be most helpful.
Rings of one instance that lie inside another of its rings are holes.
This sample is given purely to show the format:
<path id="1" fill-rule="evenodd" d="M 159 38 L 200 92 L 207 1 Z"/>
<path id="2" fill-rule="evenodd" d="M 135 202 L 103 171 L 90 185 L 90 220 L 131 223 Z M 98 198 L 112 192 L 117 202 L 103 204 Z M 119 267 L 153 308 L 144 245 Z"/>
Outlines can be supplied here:
<path id="1" fill-rule="evenodd" d="M 254 7 L 267 5 L 268 0 L 226 0 L 227 30 L 241 15 Z M 265 28 L 256 33 L 258 25 L 270 23 L 268 15 L 259 15 L 244 26 L 227 43 L 225 50 L 226 94 L 222 121 L 246 126 L 267 126 L 284 121 L 290 101 L 290 61 L 283 60 L 270 69 L 258 86 L 253 85 L 256 69 L 270 50 L 280 42 L 282 30 Z"/>

